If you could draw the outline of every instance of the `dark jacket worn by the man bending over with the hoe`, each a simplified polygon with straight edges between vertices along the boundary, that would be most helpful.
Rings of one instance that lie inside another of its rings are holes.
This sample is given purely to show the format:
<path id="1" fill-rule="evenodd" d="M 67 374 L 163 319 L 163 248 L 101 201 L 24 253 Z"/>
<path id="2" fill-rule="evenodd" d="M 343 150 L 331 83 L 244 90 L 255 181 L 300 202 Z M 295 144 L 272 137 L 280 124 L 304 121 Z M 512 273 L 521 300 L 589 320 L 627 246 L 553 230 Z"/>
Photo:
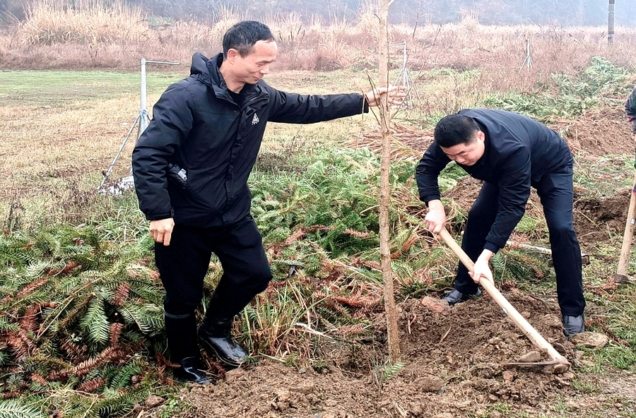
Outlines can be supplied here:
<path id="1" fill-rule="evenodd" d="M 567 172 L 572 153 L 558 133 L 528 117 L 502 110 L 464 109 L 485 134 L 483 156 L 472 166 L 458 164 L 471 177 L 499 187 L 497 216 L 486 237 L 485 249 L 502 249 L 526 210 L 530 186 L 548 172 Z M 432 143 L 416 169 L 420 200 L 440 198 L 437 177 L 450 158 Z"/>

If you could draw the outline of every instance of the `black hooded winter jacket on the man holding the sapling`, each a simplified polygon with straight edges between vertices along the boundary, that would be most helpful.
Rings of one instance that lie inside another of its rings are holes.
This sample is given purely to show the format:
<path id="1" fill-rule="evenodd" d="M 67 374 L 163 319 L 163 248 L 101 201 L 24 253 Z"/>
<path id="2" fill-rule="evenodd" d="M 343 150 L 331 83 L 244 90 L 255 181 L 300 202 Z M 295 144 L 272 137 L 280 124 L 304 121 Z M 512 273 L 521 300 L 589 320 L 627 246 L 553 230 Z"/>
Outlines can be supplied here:
<path id="1" fill-rule="evenodd" d="M 228 225 L 249 214 L 247 178 L 267 121 L 310 124 L 368 111 L 360 94 L 298 95 L 263 80 L 246 84 L 239 106 L 213 59 L 197 53 L 191 76 L 171 85 L 133 151 L 139 207 L 148 220 L 174 217 L 194 227 Z M 184 169 L 184 184 L 168 181 L 168 167 Z"/>

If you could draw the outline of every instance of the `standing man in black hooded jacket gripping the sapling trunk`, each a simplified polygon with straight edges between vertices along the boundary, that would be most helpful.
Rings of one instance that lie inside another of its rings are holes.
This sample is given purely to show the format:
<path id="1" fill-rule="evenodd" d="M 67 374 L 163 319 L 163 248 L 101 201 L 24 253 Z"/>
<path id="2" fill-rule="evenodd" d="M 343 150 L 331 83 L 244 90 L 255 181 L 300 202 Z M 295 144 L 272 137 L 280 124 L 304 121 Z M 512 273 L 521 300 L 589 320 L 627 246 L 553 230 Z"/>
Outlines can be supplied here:
<path id="1" fill-rule="evenodd" d="M 226 364 L 245 360 L 247 353 L 230 335 L 232 320 L 271 280 L 247 186 L 267 121 L 327 121 L 367 112 L 387 91 L 391 102 L 404 97 L 403 88 L 324 96 L 276 90 L 262 78 L 277 52 L 266 25 L 232 26 L 223 54 L 194 54 L 191 76 L 165 90 L 133 151 L 139 207 L 151 221 L 166 291 L 170 358 L 186 381 L 209 381 L 199 369 L 197 335 Z M 223 276 L 197 330 L 194 312 L 211 253 Z"/>

